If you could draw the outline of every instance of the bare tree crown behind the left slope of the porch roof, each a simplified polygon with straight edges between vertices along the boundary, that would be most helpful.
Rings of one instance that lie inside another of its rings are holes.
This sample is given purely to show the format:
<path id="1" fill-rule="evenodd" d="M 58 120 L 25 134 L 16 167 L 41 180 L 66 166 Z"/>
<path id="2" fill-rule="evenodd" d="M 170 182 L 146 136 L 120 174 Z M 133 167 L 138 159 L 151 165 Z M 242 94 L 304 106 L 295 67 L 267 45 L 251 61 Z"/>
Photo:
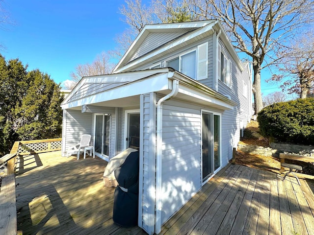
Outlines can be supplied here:
<path id="1" fill-rule="evenodd" d="M 75 68 L 75 71 L 72 71 L 70 73 L 70 76 L 76 83 L 71 84 L 71 87 L 66 88 L 72 89 L 83 76 L 102 75 L 111 73 L 114 68 L 114 64 L 111 63 L 109 59 L 110 59 L 109 55 L 106 52 L 102 52 L 100 55 L 96 57 L 96 59 L 91 64 L 89 63 L 79 64 Z"/>

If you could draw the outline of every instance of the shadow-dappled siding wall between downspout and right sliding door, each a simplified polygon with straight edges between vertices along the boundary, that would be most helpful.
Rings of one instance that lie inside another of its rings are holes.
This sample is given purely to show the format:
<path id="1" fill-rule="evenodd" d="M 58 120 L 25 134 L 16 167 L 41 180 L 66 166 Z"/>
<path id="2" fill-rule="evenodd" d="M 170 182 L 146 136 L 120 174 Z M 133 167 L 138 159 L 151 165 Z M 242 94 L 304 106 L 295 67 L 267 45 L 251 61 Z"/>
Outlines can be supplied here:
<path id="1" fill-rule="evenodd" d="M 162 215 L 167 221 L 201 188 L 200 110 L 177 101 L 163 105 Z"/>

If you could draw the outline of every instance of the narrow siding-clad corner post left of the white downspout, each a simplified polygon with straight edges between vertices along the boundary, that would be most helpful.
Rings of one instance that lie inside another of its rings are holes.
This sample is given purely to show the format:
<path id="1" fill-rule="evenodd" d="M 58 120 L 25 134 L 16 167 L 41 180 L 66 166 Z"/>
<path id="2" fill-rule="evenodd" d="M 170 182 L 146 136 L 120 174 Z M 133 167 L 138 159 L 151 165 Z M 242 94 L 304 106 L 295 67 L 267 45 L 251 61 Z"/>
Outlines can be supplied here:
<path id="1" fill-rule="evenodd" d="M 156 94 L 141 95 L 138 226 L 148 234 L 155 231 L 156 197 Z"/>

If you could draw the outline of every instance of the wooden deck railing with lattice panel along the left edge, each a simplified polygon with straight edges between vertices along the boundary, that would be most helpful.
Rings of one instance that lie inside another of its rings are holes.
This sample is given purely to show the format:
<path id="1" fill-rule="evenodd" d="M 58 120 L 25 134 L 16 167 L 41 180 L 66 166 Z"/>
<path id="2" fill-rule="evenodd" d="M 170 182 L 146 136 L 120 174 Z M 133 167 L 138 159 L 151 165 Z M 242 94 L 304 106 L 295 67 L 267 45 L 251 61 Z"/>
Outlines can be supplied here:
<path id="1" fill-rule="evenodd" d="M 15 196 L 15 164 L 19 155 L 61 150 L 61 138 L 37 141 L 16 141 L 9 154 L 0 158 L 0 165 L 7 164 L 7 176 L 0 189 L 0 234 L 17 234 Z"/>

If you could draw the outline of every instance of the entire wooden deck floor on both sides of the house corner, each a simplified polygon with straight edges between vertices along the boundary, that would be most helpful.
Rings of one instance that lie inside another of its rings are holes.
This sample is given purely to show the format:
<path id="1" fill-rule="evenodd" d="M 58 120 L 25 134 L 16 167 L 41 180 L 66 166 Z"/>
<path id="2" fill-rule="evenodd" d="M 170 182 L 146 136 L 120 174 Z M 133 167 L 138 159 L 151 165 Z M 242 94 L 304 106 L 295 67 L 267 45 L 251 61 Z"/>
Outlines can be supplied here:
<path id="1" fill-rule="evenodd" d="M 114 188 L 103 186 L 106 162 L 24 156 L 18 163 L 18 231 L 23 235 L 145 234 L 112 221 Z M 293 177 L 228 165 L 162 226 L 162 235 L 313 235 L 314 185 Z"/>

